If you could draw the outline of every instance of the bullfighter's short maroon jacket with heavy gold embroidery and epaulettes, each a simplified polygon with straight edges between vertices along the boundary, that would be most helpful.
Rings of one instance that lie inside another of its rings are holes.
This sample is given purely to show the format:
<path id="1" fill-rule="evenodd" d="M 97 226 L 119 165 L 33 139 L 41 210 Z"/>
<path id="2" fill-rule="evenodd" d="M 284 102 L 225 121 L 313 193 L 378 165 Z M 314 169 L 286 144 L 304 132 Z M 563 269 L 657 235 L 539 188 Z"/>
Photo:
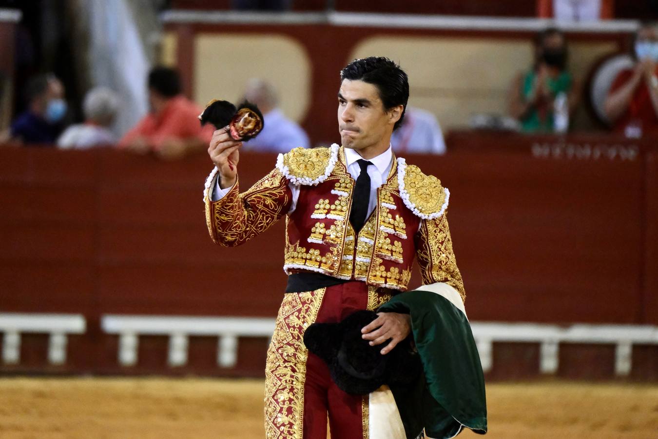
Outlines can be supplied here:
<path id="1" fill-rule="evenodd" d="M 276 168 L 247 192 L 240 194 L 236 182 L 222 199 L 211 201 L 216 172 L 206 180 L 203 197 L 216 244 L 243 244 L 286 215 L 292 183 L 299 198 L 286 216 L 286 273 L 314 271 L 406 290 L 417 257 L 423 284 L 443 282 L 465 298 L 446 219 L 449 192 L 404 159 L 393 157 L 376 208 L 357 235 L 349 223 L 355 181 L 343 147 L 280 154 Z"/>

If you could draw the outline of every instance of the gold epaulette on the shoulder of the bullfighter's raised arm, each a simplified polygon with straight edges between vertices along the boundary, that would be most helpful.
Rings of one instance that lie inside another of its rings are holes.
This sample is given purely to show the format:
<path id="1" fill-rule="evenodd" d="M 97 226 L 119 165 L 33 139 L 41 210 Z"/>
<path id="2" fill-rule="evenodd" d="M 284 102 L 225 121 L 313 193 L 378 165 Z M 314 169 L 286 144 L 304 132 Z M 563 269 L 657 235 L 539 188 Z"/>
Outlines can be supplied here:
<path id="1" fill-rule="evenodd" d="M 315 186 L 324 182 L 338 161 L 338 145 L 326 148 L 295 148 L 279 154 L 276 167 L 295 184 Z"/>

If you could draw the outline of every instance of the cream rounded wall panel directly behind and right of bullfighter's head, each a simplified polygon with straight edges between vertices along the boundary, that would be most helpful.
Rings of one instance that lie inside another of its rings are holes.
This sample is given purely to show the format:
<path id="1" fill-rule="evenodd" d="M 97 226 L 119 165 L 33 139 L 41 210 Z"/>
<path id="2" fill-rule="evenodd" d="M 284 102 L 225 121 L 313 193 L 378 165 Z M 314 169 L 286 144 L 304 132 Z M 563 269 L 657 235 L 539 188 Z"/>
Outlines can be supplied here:
<path id="1" fill-rule="evenodd" d="M 614 43 L 573 43 L 569 68 L 584 77 L 592 63 L 615 51 Z M 365 39 L 347 61 L 368 56 L 399 61 L 409 74 L 409 104 L 434 113 L 442 128 L 468 124 L 473 113 L 507 114 L 515 74 L 530 68 L 530 40 L 376 36 Z M 581 109 L 576 128 L 591 124 Z"/>

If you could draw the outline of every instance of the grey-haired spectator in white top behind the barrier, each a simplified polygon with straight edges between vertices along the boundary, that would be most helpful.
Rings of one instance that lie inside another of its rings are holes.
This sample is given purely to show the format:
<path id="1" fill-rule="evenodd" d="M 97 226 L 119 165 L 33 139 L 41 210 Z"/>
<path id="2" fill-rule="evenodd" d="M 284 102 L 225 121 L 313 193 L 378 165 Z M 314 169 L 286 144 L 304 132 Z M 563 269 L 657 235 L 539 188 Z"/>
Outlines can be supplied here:
<path id="1" fill-rule="evenodd" d="M 118 110 L 118 98 L 114 91 L 97 87 L 89 91 L 82 105 L 84 124 L 66 128 L 57 146 L 61 149 L 88 149 L 95 146 L 114 145 L 116 138 L 109 127 Z"/>

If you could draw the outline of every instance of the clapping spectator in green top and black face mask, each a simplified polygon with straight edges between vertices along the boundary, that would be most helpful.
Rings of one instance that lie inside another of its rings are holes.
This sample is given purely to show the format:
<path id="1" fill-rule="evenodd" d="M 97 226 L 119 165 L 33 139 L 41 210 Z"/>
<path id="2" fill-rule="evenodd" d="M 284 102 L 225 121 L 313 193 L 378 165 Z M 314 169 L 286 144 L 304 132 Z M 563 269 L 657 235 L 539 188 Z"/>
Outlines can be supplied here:
<path id="1" fill-rule="evenodd" d="M 534 66 L 512 83 L 509 111 L 524 132 L 564 131 L 569 113 L 578 104 L 578 90 L 567 70 L 567 40 L 561 31 L 548 28 L 535 41 Z M 556 124 L 564 120 L 554 117 L 556 103 L 565 104 L 565 126 Z"/>

